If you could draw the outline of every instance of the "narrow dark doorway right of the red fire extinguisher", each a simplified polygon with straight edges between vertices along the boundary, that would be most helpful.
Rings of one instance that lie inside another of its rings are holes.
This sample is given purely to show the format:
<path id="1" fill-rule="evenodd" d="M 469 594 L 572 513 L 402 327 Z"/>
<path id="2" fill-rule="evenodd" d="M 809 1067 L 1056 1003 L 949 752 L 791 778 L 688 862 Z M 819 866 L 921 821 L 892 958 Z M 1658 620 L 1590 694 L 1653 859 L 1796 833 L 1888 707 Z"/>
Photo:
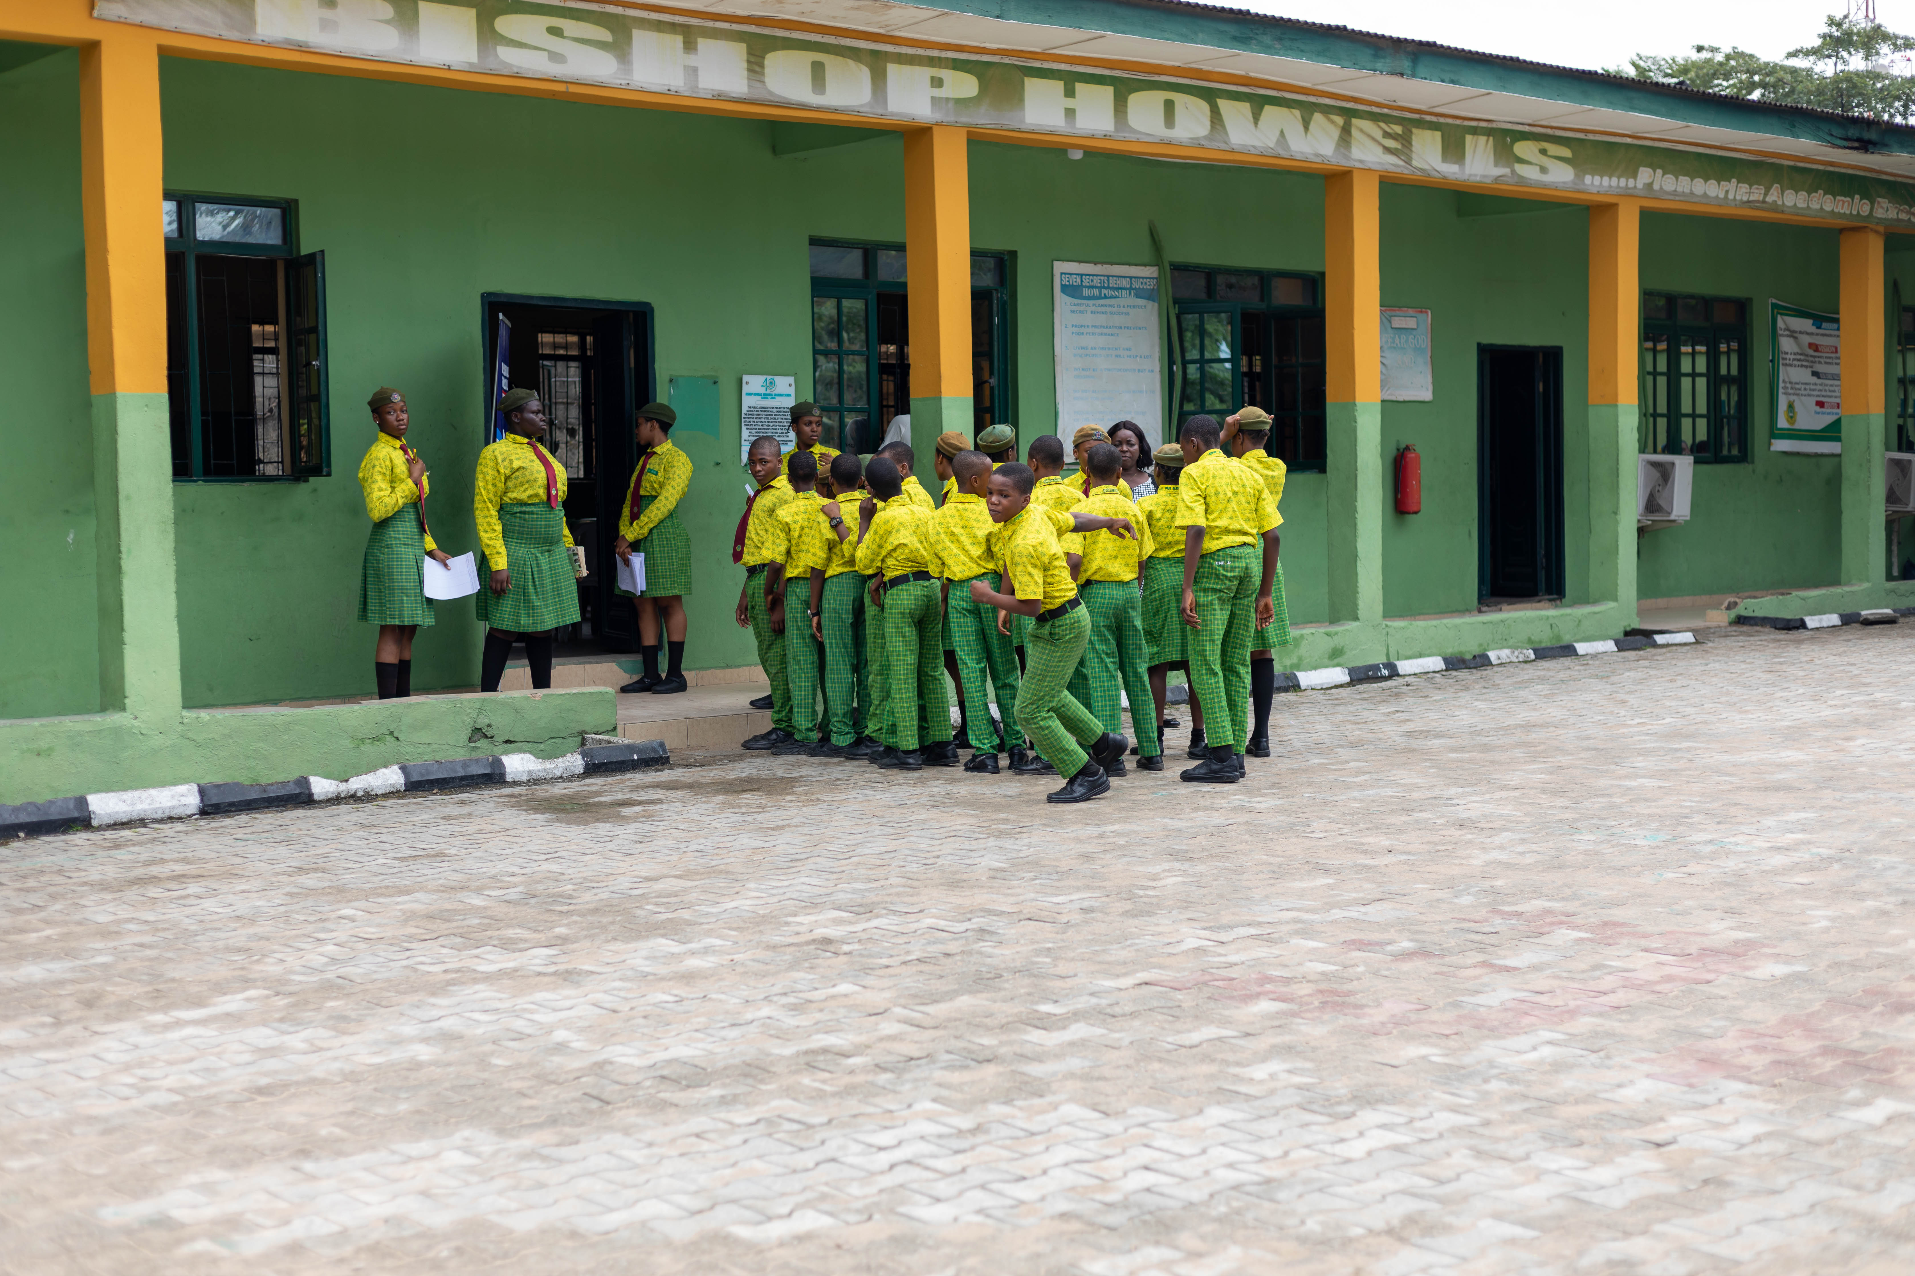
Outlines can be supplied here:
<path id="1" fill-rule="evenodd" d="M 1563 350 L 1476 346 L 1482 603 L 1563 597 Z"/>

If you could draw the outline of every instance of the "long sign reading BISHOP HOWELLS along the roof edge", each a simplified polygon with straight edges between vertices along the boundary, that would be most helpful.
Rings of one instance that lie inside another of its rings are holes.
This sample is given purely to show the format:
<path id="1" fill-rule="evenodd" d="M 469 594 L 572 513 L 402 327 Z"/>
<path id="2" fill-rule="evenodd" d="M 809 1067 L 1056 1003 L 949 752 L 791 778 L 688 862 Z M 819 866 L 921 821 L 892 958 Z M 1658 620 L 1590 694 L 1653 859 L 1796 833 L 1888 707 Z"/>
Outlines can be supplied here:
<path id="1" fill-rule="evenodd" d="M 195 34 L 687 98 L 1082 138 L 1176 142 L 1532 189 L 1764 205 L 1838 224 L 1915 222 L 1915 186 L 1580 134 L 1429 121 L 1170 77 L 663 21 L 588 0 L 96 0 L 101 19 Z"/>

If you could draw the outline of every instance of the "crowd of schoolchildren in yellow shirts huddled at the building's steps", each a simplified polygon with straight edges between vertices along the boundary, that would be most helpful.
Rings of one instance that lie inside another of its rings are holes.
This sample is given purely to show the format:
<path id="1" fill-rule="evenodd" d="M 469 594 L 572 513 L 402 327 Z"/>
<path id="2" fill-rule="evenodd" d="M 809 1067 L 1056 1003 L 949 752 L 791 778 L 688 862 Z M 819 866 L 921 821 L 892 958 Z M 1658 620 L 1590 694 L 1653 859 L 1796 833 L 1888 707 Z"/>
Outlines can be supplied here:
<path id="1" fill-rule="evenodd" d="M 806 409 L 793 419 L 808 425 Z M 1245 754 L 1270 756 L 1272 650 L 1291 641 L 1268 430 L 1258 407 L 1191 417 L 1149 455 L 1141 499 L 1099 427 L 1072 436 L 1076 474 L 1055 434 L 1019 463 L 1005 425 L 946 432 L 940 499 L 904 442 L 860 459 L 804 430 L 783 455 L 755 440 L 735 618 L 772 683 L 772 727 L 745 748 L 984 775 L 1002 754 L 1013 773 L 1061 777 L 1049 802 L 1088 802 L 1130 754 L 1164 769 L 1166 681 L 1183 671 L 1197 765 L 1180 777 L 1237 782 Z"/>

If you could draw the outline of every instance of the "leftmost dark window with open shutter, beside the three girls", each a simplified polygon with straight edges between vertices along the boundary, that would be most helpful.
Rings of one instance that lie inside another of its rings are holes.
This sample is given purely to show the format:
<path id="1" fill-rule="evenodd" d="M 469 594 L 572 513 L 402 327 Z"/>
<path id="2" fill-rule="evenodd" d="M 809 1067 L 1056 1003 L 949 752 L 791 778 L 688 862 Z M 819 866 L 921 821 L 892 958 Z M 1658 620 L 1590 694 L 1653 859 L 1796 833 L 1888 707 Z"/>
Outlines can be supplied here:
<path id="1" fill-rule="evenodd" d="M 174 480 L 331 474 L 326 254 L 299 253 L 299 207 L 167 191 L 161 212 Z"/>

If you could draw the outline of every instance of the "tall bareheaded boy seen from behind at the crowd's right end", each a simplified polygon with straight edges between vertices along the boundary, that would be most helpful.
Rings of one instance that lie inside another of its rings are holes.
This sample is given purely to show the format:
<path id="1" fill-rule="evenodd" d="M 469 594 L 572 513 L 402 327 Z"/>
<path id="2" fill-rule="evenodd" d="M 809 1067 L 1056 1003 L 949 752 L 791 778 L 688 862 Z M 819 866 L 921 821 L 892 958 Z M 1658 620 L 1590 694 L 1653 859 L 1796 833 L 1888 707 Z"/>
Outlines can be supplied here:
<path id="1" fill-rule="evenodd" d="M 1235 784 L 1250 738 L 1250 637 L 1272 620 L 1277 574 L 1277 507 L 1249 467 L 1218 448 L 1214 417 L 1183 423 L 1183 476 L 1176 526 L 1183 528 L 1183 624 L 1191 635 L 1191 685 L 1208 712 L 1210 758 L 1178 777 Z M 1262 564 L 1256 545 L 1262 543 Z M 1258 570 L 1262 566 L 1262 570 Z"/>

